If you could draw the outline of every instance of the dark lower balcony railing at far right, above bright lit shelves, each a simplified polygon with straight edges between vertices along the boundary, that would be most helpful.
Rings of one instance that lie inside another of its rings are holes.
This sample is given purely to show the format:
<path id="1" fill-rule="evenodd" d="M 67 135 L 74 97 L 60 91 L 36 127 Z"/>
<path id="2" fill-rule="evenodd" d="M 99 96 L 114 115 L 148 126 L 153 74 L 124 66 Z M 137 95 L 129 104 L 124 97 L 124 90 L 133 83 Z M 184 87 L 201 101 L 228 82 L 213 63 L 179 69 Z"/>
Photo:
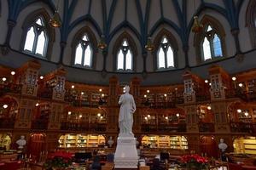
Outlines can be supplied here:
<path id="1" fill-rule="evenodd" d="M 250 122 L 230 122 L 232 133 L 253 133 L 253 123 Z"/>

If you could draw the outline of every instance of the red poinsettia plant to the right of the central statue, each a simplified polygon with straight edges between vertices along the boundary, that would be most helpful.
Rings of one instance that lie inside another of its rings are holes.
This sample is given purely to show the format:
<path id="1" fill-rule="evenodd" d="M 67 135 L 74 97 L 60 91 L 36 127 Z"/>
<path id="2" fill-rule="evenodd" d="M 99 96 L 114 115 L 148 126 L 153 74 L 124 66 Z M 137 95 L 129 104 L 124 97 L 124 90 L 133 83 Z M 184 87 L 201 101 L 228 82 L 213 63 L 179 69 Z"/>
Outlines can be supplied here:
<path id="1" fill-rule="evenodd" d="M 185 155 L 181 157 L 182 167 L 189 167 L 193 169 L 208 169 L 207 157 L 195 155 Z"/>

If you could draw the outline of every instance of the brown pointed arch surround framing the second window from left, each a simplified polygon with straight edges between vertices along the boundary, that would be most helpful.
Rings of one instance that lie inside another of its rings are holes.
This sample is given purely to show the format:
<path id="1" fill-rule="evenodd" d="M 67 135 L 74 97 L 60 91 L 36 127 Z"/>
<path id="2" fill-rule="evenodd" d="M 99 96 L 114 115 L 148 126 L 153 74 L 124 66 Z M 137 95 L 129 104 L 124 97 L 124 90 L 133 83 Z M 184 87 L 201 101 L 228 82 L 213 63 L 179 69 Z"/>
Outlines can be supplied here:
<path id="1" fill-rule="evenodd" d="M 90 68 L 95 68 L 96 67 L 96 54 L 98 52 L 97 40 L 96 40 L 96 36 L 95 36 L 94 32 L 90 29 L 89 26 L 84 26 L 83 28 L 79 29 L 79 31 L 77 31 L 77 33 L 73 37 L 73 41 L 71 43 L 72 56 L 73 56 L 73 58 L 71 59 L 71 62 L 72 62 L 71 65 L 75 65 L 76 47 L 78 46 L 79 42 L 81 41 L 81 39 L 84 35 L 86 35 L 89 38 L 90 47 L 92 49 L 92 59 L 91 59 L 91 67 Z"/>

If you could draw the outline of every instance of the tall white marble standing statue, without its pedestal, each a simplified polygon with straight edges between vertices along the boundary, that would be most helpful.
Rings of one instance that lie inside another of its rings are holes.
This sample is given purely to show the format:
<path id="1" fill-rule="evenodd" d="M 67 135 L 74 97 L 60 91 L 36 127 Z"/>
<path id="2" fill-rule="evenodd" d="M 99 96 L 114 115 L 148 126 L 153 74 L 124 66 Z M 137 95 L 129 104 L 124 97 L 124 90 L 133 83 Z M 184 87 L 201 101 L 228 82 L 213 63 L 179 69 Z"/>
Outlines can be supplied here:
<path id="1" fill-rule="evenodd" d="M 119 98 L 119 137 L 133 137 L 132 124 L 133 113 L 136 111 L 136 105 L 133 96 L 129 94 L 130 87 L 125 86 L 125 94 Z"/>

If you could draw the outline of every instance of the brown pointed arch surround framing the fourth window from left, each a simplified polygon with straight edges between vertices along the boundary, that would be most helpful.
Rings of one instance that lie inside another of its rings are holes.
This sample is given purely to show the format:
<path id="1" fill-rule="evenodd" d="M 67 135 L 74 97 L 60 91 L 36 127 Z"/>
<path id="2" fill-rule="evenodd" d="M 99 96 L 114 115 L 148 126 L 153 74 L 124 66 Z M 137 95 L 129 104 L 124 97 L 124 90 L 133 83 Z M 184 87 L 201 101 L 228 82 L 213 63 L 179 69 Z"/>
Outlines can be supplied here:
<path id="1" fill-rule="evenodd" d="M 173 53 L 173 62 L 174 62 L 174 66 L 173 68 L 177 68 L 177 50 L 178 50 L 178 46 L 177 46 L 177 40 L 176 38 L 172 35 L 171 31 L 166 30 L 165 28 L 163 28 L 154 38 L 154 45 L 155 45 L 155 50 L 154 50 L 154 69 L 158 70 L 158 51 L 162 42 L 162 39 L 166 37 L 168 44 L 171 46 L 172 48 L 172 53 Z M 168 68 L 166 68 L 168 69 Z"/>

